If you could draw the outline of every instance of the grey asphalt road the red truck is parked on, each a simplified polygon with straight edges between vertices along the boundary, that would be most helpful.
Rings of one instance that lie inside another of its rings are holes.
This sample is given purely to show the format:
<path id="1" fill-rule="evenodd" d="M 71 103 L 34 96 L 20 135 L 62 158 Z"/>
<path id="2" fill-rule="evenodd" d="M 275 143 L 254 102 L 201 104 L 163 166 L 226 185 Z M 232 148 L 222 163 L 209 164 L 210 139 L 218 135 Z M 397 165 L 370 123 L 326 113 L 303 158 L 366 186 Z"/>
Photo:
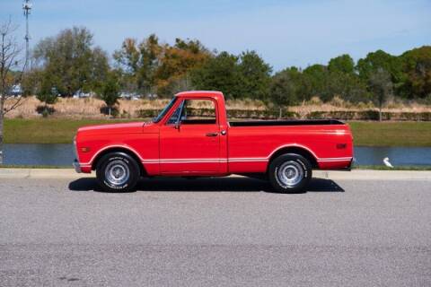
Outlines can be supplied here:
<path id="1" fill-rule="evenodd" d="M 429 180 L 139 188 L 0 179 L 0 286 L 431 286 Z"/>

